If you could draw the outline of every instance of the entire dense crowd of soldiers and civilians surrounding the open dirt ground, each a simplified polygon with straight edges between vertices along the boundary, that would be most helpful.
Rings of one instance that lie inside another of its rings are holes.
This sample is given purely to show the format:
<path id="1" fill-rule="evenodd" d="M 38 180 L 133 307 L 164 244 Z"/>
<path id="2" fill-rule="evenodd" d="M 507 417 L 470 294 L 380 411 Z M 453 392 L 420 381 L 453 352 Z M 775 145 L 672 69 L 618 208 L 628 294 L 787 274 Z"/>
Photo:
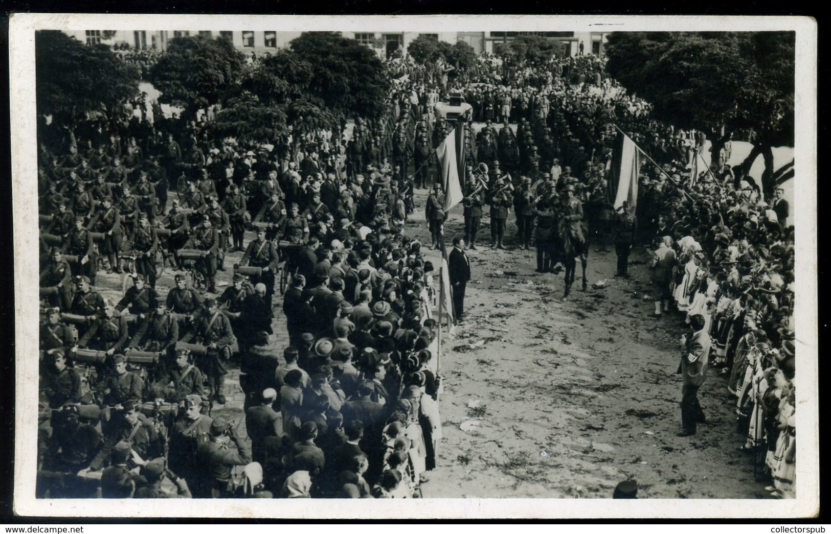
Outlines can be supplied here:
<path id="1" fill-rule="evenodd" d="M 454 244 L 476 249 L 486 204 L 490 245 L 510 242 L 513 209 L 538 272 L 565 259 L 557 228 L 583 261 L 589 243 L 613 242 L 619 276 L 633 246 L 660 242 L 655 315 L 705 318 L 744 450 L 764 451 L 771 491 L 792 496 L 794 233 L 781 194 L 765 202 L 725 154 L 691 175 L 701 136 L 652 120 L 601 58 L 503 67 L 484 55 L 448 81 L 389 61 L 386 115 L 268 145 L 214 139 L 209 113 L 165 117 L 144 98 L 42 121 L 38 495 L 418 495 L 441 437 L 437 325 L 433 267 L 402 230 L 415 189 L 430 189 L 430 247 L 445 246 L 435 148 L 461 123 L 435 103 L 458 92 L 474 109 Z M 637 206 L 617 212 L 616 124 L 661 164 L 645 164 Z M 163 266 L 175 287 L 160 287 Z M 277 346 L 283 270 L 289 345 Z M 129 274 L 120 299 L 96 290 L 101 271 Z M 210 415 L 237 359 L 244 433 Z"/>

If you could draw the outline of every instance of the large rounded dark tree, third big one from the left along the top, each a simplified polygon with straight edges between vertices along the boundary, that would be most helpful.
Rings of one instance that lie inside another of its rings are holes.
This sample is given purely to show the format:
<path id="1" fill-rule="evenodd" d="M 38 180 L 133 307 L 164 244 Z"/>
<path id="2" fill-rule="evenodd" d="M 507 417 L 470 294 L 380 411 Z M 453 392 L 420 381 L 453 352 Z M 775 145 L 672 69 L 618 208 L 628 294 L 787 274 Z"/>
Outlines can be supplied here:
<path id="1" fill-rule="evenodd" d="M 290 48 L 312 68 L 309 96 L 333 113 L 377 117 L 384 111 L 390 81 L 374 51 L 334 32 L 303 32 Z"/>

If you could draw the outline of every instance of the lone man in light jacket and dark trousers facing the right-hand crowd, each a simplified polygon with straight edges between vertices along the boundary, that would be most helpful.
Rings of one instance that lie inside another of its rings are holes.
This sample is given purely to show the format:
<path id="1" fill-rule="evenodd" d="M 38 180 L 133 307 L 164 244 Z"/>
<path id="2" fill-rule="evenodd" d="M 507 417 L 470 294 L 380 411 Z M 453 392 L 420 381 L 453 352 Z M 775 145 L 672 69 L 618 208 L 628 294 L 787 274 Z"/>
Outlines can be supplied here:
<path id="1" fill-rule="evenodd" d="M 704 329 L 704 316 L 690 317 L 690 336 L 681 336 L 681 375 L 684 387 L 681 389 L 681 424 L 684 430 L 678 434 L 686 438 L 696 434 L 696 423 L 706 423 L 701 404 L 698 404 L 698 389 L 707 378 L 707 363 L 710 357 L 711 340 Z"/>

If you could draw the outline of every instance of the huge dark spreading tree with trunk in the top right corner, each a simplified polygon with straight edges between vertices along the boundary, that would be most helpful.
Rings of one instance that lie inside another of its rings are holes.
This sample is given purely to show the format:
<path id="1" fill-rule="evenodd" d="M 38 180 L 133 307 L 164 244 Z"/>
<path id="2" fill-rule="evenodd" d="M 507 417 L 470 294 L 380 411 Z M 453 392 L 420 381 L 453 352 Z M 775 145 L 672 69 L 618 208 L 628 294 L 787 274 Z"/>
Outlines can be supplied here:
<path id="1" fill-rule="evenodd" d="M 607 71 L 651 100 L 656 118 L 705 132 L 718 154 L 736 132 L 753 132 L 773 194 L 772 147 L 794 143 L 794 32 L 613 32 Z"/>

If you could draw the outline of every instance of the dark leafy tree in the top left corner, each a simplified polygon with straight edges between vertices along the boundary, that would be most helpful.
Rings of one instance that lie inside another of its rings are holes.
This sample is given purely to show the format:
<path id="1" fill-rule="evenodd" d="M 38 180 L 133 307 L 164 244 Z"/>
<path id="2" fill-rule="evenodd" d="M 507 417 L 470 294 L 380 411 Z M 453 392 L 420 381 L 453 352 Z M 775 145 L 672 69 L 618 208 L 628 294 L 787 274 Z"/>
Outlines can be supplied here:
<path id="1" fill-rule="evenodd" d="M 113 110 L 139 92 L 139 72 L 106 45 L 86 46 L 63 32 L 35 32 L 38 115 L 71 126 L 81 115 Z"/>

